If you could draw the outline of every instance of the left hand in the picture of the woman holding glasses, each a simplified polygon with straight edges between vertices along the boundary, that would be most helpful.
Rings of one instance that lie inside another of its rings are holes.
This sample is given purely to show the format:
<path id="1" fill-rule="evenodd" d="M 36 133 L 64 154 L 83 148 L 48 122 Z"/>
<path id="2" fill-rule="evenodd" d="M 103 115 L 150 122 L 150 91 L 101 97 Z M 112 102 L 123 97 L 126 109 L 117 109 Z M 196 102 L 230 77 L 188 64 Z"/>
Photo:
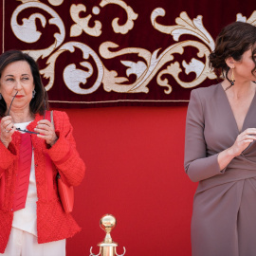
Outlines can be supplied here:
<path id="1" fill-rule="evenodd" d="M 1 141 L 8 148 L 9 142 L 11 141 L 11 136 L 15 132 L 16 128 L 11 120 L 10 116 L 1 119 Z"/>

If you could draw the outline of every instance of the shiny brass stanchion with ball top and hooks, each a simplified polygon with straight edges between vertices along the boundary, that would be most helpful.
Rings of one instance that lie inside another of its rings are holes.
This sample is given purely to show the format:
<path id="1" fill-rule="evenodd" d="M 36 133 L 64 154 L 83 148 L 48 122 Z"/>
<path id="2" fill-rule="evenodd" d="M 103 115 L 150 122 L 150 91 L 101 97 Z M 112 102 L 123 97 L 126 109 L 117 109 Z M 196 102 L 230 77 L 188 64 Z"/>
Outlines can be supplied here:
<path id="1" fill-rule="evenodd" d="M 110 232 L 116 227 L 116 218 L 111 214 L 105 214 L 102 216 L 100 221 L 100 227 L 106 232 L 104 241 L 98 244 L 98 247 L 101 247 L 99 254 L 92 253 L 92 247 L 90 249 L 90 256 L 123 256 L 126 252 L 125 247 L 123 247 L 123 254 L 117 253 L 117 247 L 119 244 L 113 242 Z"/>

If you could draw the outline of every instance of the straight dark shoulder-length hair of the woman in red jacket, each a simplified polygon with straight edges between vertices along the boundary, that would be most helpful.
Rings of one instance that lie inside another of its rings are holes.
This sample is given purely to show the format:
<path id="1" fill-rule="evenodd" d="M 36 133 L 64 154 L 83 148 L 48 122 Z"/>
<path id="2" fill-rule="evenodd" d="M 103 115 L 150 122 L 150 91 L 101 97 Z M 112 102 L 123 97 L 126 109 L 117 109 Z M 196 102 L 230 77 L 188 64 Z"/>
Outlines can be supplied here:
<path id="1" fill-rule="evenodd" d="M 27 64 L 29 64 L 33 76 L 33 81 L 35 84 L 36 94 L 35 97 L 29 103 L 30 112 L 33 114 L 39 113 L 40 115 L 44 115 L 45 110 L 49 108 L 48 96 L 46 93 L 45 86 L 41 81 L 38 64 L 31 56 L 29 56 L 25 52 L 22 52 L 21 50 L 9 50 L 2 53 L 0 55 L 0 78 L 2 77 L 3 70 L 6 68 L 7 65 L 19 61 L 25 61 L 27 62 Z M 0 116 L 4 117 L 6 111 L 7 104 L 2 98 L 2 100 L 0 101 Z"/>

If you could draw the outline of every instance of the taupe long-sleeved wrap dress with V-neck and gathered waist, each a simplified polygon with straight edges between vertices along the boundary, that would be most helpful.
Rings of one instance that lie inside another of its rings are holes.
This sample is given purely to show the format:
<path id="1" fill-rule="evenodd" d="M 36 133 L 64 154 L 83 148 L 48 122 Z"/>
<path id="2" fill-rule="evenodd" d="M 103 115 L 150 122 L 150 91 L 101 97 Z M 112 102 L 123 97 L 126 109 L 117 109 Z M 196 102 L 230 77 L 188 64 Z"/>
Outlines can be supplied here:
<path id="1" fill-rule="evenodd" d="M 256 97 L 242 131 L 256 128 Z M 220 170 L 217 155 L 239 135 L 221 85 L 192 90 L 185 170 L 199 181 L 192 210 L 192 256 L 256 255 L 256 142 Z"/>

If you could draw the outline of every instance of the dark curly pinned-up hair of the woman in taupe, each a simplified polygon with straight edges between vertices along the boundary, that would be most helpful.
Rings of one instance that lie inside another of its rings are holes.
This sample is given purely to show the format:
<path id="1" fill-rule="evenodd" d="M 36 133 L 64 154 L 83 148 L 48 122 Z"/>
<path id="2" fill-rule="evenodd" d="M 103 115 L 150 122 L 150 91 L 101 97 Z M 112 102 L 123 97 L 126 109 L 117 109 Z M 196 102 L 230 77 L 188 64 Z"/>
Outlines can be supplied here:
<path id="1" fill-rule="evenodd" d="M 210 68 L 218 74 L 229 71 L 225 60 L 232 57 L 240 61 L 242 55 L 256 43 L 256 27 L 245 22 L 234 22 L 224 27 L 215 41 L 215 49 L 210 53 Z M 256 46 L 252 48 L 252 55 L 256 54 Z M 251 73 L 256 69 L 256 61 Z"/>

